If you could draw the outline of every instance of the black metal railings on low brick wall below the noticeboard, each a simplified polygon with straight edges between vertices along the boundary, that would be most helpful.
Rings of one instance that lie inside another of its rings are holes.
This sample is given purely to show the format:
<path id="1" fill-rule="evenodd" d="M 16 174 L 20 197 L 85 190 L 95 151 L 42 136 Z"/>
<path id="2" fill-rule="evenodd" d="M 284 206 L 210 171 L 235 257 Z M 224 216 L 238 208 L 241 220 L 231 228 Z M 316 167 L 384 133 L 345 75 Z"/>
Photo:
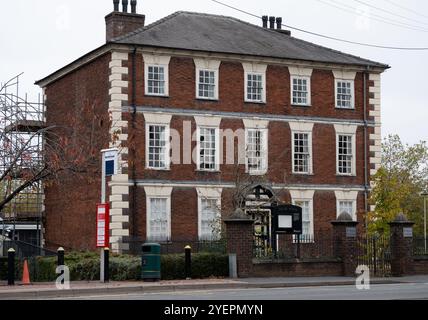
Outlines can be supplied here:
<path id="1" fill-rule="evenodd" d="M 334 259 L 334 239 L 332 236 L 291 236 L 279 235 L 277 252 L 271 247 L 254 246 L 253 257 L 262 260 L 322 260 Z"/>

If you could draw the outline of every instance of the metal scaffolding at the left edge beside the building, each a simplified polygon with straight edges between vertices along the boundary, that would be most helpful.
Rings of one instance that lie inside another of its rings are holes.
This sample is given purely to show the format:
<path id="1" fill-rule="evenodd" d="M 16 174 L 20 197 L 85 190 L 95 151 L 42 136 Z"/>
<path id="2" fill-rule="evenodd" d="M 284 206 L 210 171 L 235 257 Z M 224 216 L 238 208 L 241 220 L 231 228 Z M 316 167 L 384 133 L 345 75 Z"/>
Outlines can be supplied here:
<path id="1" fill-rule="evenodd" d="M 37 102 L 21 96 L 20 76 L 0 84 L 0 201 L 29 179 L 43 163 L 43 128 L 45 104 L 43 96 Z M 7 174 L 6 174 L 7 173 Z M 0 208 L 1 209 L 1 208 Z M 43 186 L 41 181 L 31 184 L 13 198 L 0 212 L 1 218 L 13 225 L 31 222 L 39 226 L 43 216 Z"/>

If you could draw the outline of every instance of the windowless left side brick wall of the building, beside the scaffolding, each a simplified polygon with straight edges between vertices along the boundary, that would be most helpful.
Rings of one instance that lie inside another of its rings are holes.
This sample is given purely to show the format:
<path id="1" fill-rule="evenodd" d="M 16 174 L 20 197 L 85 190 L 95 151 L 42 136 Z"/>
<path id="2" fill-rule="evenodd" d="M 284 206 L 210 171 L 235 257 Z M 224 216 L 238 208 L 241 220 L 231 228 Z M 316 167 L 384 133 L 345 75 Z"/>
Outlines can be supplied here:
<path id="1" fill-rule="evenodd" d="M 109 68 L 111 55 L 105 54 L 52 83 L 45 89 L 47 125 L 86 127 L 108 114 Z M 93 106 L 92 113 L 81 110 Z M 109 124 L 101 125 L 98 150 L 109 145 Z M 86 139 L 87 137 L 80 137 Z M 103 143 L 101 143 L 104 141 Z M 86 141 L 85 141 L 86 142 Z M 101 162 L 101 155 L 99 161 Z M 46 246 L 93 250 L 95 248 L 95 204 L 100 201 L 100 168 L 87 175 L 66 174 L 61 184 L 45 186 L 44 238 Z"/>

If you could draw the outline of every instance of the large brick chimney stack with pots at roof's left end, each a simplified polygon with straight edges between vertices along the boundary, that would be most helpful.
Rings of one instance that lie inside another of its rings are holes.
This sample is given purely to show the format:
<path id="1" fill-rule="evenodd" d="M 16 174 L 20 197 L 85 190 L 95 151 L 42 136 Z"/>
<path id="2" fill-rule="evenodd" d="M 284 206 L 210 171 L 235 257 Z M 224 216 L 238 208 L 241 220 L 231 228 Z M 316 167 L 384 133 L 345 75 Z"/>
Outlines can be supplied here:
<path id="1" fill-rule="evenodd" d="M 146 16 L 137 14 L 137 0 L 131 0 L 130 13 L 128 13 L 128 4 L 128 0 L 122 0 L 123 12 L 120 12 L 120 0 L 113 0 L 113 12 L 105 18 L 107 42 L 144 27 Z"/>

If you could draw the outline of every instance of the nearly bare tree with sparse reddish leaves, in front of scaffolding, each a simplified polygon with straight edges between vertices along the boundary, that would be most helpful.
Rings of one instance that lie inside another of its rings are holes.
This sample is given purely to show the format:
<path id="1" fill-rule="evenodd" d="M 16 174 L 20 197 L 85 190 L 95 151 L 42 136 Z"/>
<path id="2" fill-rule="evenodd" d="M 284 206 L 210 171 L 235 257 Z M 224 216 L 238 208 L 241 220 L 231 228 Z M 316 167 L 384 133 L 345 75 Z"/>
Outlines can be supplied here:
<path id="1" fill-rule="evenodd" d="M 86 101 L 71 111 L 67 124 L 47 124 L 43 99 L 33 103 L 20 96 L 19 76 L 0 84 L 0 212 L 24 193 L 37 197 L 42 182 L 99 170 L 99 146 L 106 138 L 99 132 L 108 132 L 102 129 L 111 123 L 95 106 Z M 14 210 L 26 209 L 18 201 Z"/>

